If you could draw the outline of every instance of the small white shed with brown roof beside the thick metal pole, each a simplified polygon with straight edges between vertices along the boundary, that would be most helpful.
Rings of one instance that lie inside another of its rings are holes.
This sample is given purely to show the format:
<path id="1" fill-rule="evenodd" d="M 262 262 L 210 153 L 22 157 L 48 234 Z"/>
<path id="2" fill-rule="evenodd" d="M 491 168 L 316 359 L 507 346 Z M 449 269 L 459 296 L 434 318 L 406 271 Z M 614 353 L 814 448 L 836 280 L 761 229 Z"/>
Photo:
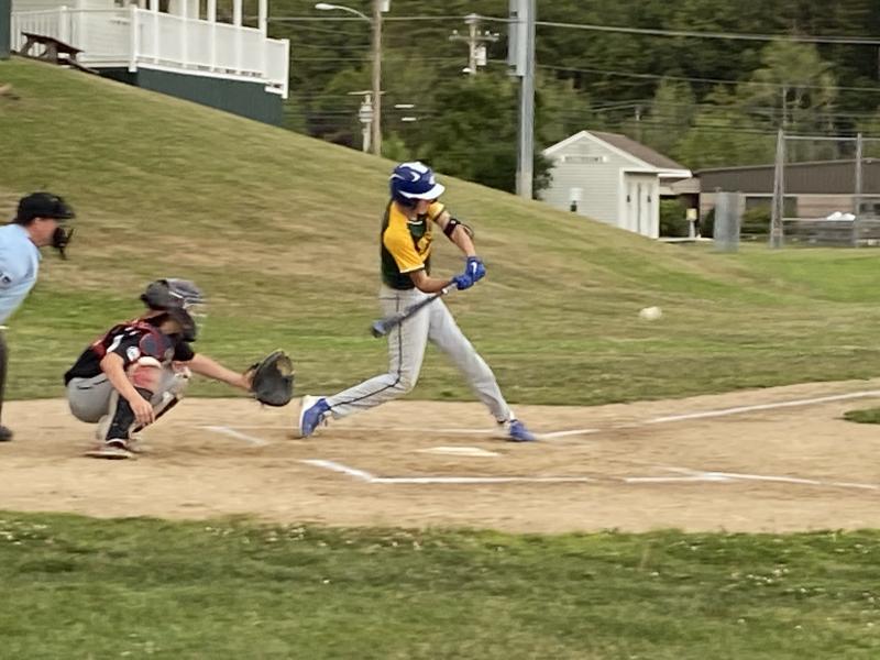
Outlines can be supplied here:
<path id="1" fill-rule="evenodd" d="M 559 209 L 656 239 L 660 195 L 691 170 L 626 135 L 581 131 L 543 151 L 552 183 L 540 198 Z"/>

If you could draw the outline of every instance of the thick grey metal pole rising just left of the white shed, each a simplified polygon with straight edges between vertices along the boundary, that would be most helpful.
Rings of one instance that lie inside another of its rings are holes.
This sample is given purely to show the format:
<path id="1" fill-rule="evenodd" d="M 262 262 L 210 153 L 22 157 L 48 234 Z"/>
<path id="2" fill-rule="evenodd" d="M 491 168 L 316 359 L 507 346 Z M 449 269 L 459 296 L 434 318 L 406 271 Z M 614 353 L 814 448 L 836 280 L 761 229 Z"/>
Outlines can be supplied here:
<path id="1" fill-rule="evenodd" d="M 519 78 L 519 130 L 516 194 L 532 197 L 535 177 L 535 20 L 536 0 L 509 0 L 510 74 Z"/>

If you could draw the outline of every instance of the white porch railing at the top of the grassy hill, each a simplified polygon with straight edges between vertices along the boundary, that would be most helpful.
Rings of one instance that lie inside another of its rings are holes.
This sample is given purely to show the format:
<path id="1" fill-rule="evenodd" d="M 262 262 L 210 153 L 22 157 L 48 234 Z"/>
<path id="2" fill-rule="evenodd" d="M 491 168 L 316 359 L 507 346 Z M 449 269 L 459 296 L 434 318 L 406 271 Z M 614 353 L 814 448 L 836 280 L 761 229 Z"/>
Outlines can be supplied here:
<path id="1" fill-rule="evenodd" d="M 82 51 L 91 66 L 151 65 L 231 78 L 258 79 L 287 98 L 289 42 L 254 28 L 138 9 L 59 9 L 12 13 L 12 48 L 22 32 L 54 36 Z"/>

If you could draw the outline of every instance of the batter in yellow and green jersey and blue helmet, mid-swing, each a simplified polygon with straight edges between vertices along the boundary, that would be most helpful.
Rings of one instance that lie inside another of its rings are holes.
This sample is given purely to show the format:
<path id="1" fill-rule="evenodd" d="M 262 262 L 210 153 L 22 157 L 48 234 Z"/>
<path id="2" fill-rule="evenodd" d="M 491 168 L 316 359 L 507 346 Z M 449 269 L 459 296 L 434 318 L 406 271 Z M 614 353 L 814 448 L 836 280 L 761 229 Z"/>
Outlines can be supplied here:
<path id="1" fill-rule="evenodd" d="M 403 163 L 391 176 L 391 200 L 382 221 L 383 316 L 399 312 L 447 287 L 472 287 L 486 274 L 476 255 L 472 232 L 439 201 L 446 190 L 430 167 Z M 431 277 L 431 245 L 442 232 L 465 257 L 464 272 L 451 279 Z M 428 342 L 440 349 L 461 371 L 508 440 L 529 442 L 535 436 L 518 420 L 502 395 L 495 374 L 477 354 L 455 319 L 438 299 L 388 334 L 388 372 L 326 398 L 302 397 L 299 435 L 308 438 L 329 417 L 340 419 L 373 408 L 413 391 L 421 371 Z"/>

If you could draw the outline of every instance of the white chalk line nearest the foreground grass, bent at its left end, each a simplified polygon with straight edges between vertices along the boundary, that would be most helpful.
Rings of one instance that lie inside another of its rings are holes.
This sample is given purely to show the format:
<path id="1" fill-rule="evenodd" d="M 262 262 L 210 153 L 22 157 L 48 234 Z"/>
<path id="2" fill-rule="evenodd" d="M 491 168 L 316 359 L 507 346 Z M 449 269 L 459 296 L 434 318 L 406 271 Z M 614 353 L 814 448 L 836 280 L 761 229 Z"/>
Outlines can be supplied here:
<path id="1" fill-rule="evenodd" d="M 300 461 L 307 465 L 322 468 L 332 472 L 340 472 L 369 484 L 508 484 L 508 483 L 543 483 L 543 484 L 564 484 L 564 483 L 585 483 L 601 484 L 617 482 L 625 484 L 680 484 L 680 483 L 743 483 L 749 481 L 785 483 L 803 486 L 834 487 L 834 488 L 855 488 L 862 491 L 880 491 L 880 486 L 875 484 L 858 484 L 851 482 L 823 482 L 814 479 L 801 479 L 794 476 L 774 476 L 763 474 L 741 474 L 737 472 L 701 472 L 686 468 L 667 468 L 669 472 L 678 472 L 678 476 L 376 476 L 365 470 L 351 468 L 338 461 L 326 461 L 322 459 L 307 459 Z"/>

